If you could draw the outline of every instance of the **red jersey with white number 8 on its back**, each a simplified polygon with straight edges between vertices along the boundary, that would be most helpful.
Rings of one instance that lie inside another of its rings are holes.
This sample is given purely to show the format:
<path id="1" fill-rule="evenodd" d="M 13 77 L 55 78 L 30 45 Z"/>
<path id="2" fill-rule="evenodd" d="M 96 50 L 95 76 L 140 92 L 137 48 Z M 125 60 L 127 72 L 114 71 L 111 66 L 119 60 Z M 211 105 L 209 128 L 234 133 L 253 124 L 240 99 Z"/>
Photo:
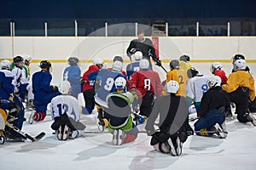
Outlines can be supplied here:
<path id="1" fill-rule="evenodd" d="M 157 97 L 161 95 L 163 89 L 158 72 L 137 71 L 131 76 L 130 88 L 137 88 L 137 96 L 143 98 L 147 92 L 154 93 Z"/>

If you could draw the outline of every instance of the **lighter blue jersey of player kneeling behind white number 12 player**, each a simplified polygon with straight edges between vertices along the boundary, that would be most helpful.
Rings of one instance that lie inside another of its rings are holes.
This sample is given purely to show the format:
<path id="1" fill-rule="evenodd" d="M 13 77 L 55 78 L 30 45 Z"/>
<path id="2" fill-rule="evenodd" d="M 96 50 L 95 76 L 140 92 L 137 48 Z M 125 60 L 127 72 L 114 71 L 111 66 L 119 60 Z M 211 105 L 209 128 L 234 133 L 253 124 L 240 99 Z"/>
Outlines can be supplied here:
<path id="1" fill-rule="evenodd" d="M 63 72 L 63 80 L 70 82 L 72 87 L 71 95 L 78 98 L 78 94 L 81 93 L 81 70 L 78 65 L 72 65 L 67 67 Z"/>

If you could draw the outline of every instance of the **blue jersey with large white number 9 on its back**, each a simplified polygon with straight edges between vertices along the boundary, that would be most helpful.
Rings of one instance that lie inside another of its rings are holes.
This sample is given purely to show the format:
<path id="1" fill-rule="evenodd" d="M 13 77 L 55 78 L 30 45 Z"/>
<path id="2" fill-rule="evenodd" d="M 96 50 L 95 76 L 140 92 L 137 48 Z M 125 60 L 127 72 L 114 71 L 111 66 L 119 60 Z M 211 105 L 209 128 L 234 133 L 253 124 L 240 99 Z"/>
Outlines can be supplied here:
<path id="1" fill-rule="evenodd" d="M 108 69 L 102 69 L 98 72 L 96 82 L 100 84 L 100 88 L 97 89 L 95 100 L 96 103 L 105 107 L 108 107 L 106 99 L 108 94 L 116 92 L 114 81 L 117 77 L 126 77 L 118 71 L 109 71 Z"/>

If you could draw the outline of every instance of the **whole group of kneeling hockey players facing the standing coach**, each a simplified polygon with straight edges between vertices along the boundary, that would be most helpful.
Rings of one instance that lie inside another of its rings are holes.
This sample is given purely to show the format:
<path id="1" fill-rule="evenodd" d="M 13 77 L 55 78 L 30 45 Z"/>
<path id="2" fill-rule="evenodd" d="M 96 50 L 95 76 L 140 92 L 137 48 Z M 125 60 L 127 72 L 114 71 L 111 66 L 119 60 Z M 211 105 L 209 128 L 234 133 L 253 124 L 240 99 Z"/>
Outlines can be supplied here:
<path id="1" fill-rule="evenodd" d="M 160 82 L 158 72 L 152 70 L 150 60 L 143 59 L 140 51 L 132 56 L 135 62 L 127 65 L 126 71 L 122 71 L 122 57 L 114 57 L 113 65 L 108 69 L 103 68 L 102 59 L 94 59 L 93 65 L 84 72 L 82 81 L 79 59 L 71 57 L 68 59 L 70 66 L 65 69 L 59 87 L 50 85 L 51 63 L 41 61 L 39 66 L 42 70 L 32 75 L 35 111 L 32 111 L 28 122 L 44 121 L 47 105 L 50 104 L 54 120 L 51 127 L 58 139 L 75 139 L 84 135 L 85 125 L 79 122 L 78 102 L 83 82 L 83 114 L 93 114 L 96 106 L 97 126 L 101 132 L 108 128 L 108 132 L 113 133 L 115 145 L 137 139 L 140 132 L 137 126 L 146 124 L 146 133 L 152 136 L 150 144 L 155 150 L 179 156 L 183 143 L 194 133 L 226 138 L 224 121 L 232 116 L 230 103 L 236 105 L 235 114 L 239 122 L 252 122 L 256 126 L 251 113 L 255 111 L 254 80 L 243 55 L 233 57 L 234 70 L 229 78 L 218 62 L 211 65 L 214 76 L 201 75 L 189 64 L 189 56 L 183 55 L 179 60 L 170 62 L 166 82 Z M 25 70 L 15 59 L 14 63 L 20 68 L 22 77 Z M 24 98 L 20 98 L 21 88 L 17 87 L 17 82 L 14 83 L 15 76 L 10 70 L 11 63 L 2 60 L 0 129 L 2 137 L 20 139 L 19 133 L 4 123 L 13 123 L 21 130 L 24 121 L 21 103 Z M 15 91 L 15 88 L 18 90 Z M 198 118 L 195 129 L 189 126 L 191 105 L 195 106 Z"/>

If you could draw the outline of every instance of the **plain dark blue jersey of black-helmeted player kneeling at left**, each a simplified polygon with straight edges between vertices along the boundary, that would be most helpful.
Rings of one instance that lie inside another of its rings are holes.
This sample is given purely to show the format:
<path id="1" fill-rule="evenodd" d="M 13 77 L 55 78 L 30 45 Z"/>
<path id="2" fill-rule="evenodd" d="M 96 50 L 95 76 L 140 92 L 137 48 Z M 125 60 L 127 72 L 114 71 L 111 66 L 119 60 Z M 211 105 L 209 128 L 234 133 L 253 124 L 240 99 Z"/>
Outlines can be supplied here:
<path id="1" fill-rule="evenodd" d="M 32 76 L 32 89 L 35 100 L 44 99 L 44 96 L 52 93 L 51 75 L 48 71 L 38 71 Z"/>

